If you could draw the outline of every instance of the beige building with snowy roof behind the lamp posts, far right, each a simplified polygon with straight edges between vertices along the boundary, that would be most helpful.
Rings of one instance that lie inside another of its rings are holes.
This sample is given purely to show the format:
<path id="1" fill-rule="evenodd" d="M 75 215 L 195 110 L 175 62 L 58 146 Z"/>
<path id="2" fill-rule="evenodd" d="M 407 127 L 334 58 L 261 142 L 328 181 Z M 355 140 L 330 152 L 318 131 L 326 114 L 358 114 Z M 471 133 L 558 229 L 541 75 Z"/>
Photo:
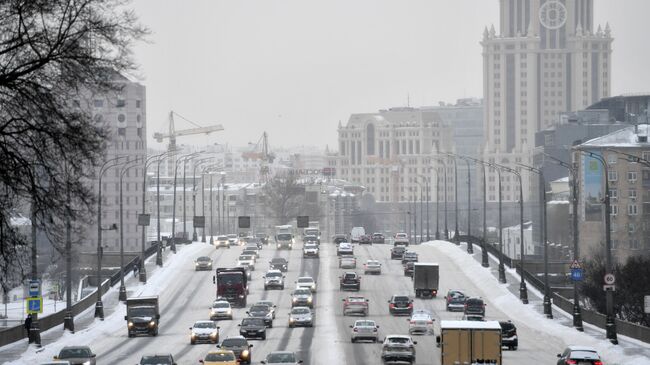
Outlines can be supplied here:
<path id="1" fill-rule="evenodd" d="M 602 156 L 607 163 L 610 194 L 612 253 L 619 262 L 650 254 L 650 161 L 648 125 L 632 126 L 577 146 Z M 604 252 L 604 174 L 598 160 L 574 154 L 579 167 L 580 254 Z"/>

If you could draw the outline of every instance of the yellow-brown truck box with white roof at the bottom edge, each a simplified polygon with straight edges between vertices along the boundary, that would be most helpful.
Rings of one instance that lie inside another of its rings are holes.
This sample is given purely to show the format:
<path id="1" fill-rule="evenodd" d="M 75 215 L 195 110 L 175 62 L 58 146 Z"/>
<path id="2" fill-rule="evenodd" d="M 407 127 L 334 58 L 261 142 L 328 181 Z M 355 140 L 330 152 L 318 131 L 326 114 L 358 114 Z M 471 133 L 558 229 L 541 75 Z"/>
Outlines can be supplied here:
<path id="1" fill-rule="evenodd" d="M 441 321 L 441 365 L 501 365 L 501 326 L 497 321 Z"/>

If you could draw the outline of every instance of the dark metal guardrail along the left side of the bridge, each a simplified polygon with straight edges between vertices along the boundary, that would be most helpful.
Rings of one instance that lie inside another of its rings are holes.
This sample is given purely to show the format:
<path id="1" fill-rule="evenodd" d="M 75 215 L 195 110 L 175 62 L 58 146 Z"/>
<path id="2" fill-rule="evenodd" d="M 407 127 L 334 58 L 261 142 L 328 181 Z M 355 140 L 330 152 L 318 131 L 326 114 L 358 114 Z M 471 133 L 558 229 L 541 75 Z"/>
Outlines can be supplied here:
<path id="1" fill-rule="evenodd" d="M 155 254 L 157 250 L 158 250 L 157 243 L 151 245 L 149 248 L 145 250 L 145 258 L 148 258 L 151 255 Z M 133 265 L 135 264 L 136 260 L 137 259 L 134 258 L 125 265 L 124 268 L 125 273 L 129 272 L 130 270 L 133 270 Z M 102 292 L 106 294 L 108 289 L 110 289 L 113 285 L 119 282 L 120 282 L 120 272 L 118 271 L 115 274 L 111 275 L 108 279 L 104 280 L 104 282 L 102 283 Z M 72 314 L 74 316 L 81 314 L 83 311 L 93 306 L 96 303 L 96 300 L 97 300 L 96 291 L 93 291 L 91 294 L 87 295 L 86 297 L 84 297 L 83 299 L 81 299 L 80 301 L 72 305 Z M 65 317 L 65 309 L 60 310 L 56 313 L 49 314 L 42 318 L 39 318 L 38 323 L 41 332 L 47 331 L 58 325 L 62 325 L 64 317 Z M 16 341 L 20 341 L 24 338 L 27 338 L 27 332 L 25 331 L 25 328 L 23 327 L 22 323 L 20 323 L 17 326 L 4 328 L 0 330 L 0 347 Z"/>

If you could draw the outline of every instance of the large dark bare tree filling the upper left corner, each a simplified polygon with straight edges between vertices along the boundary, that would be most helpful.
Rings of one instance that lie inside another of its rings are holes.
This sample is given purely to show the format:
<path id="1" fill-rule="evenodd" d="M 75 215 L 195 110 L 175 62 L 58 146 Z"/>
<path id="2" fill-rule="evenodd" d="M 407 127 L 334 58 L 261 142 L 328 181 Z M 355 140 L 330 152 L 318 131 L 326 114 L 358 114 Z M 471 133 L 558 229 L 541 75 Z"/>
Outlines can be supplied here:
<path id="1" fill-rule="evenodd" d="M 135 69 L 134 41 L 147 30 L 124 0 L 0 1 L 0 282 L 25 269 L 32 224 L 61 242 L 64 217 L 92 217 L 86 182 L 108 130 L 80 95 L 119 92 L 115 75 Z M 68 206 L 74 209 L 67 209 Z M 13 281 L 13 280 L 12 280 Z"/>

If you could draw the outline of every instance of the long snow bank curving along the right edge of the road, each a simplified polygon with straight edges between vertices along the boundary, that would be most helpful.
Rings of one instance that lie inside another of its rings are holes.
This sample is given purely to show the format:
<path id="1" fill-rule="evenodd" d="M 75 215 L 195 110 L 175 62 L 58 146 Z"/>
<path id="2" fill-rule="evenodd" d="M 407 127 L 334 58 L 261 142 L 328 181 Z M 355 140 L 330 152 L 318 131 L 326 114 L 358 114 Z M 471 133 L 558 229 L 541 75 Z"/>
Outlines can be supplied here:
<path id="1" fill-rule="evenodd" d="M 567 345 L 591 346 L 598 350 L 607 364 L 650 365 L 650 359 L 646 356 L 627 355 L 624 353 L 626 349 L 620 345 L 613 345 L 608 340 L 594 338 L 555 320 L 549 320 L 530 305 L 521 303 L 519 298 L 508 290 L 507 284 L 500 284 L 490 273 L 489 268 L 482 267 L 472 256 L 459 250 L 457 246 L 446 241 L 425 242 L 423 245 L 434 247 L 453 260 L 460 270 L 472 278 L 485 297 L 489 297 L 495 305 L 501 308 L 508 308 L 508 315 L 511 319 L 534 323 L 535 329 L 547 333 L 549 336 L 560 338 Z M 650 348 L 650 345 L 644 344 L 643 347 Z"/>

